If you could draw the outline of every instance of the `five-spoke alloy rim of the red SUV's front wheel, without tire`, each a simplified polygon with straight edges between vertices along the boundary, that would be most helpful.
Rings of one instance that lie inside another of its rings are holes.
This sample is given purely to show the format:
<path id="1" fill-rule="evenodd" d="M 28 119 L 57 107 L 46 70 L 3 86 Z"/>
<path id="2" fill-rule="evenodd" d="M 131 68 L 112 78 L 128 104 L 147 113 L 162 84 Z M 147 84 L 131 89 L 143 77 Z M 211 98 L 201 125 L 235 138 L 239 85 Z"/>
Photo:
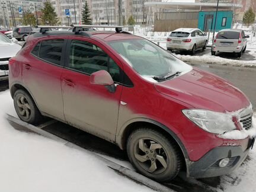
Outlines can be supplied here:
<path id="1" fill-rule="evenodd" d="M 161 144 L 155 140 L 142 138 L 135 145 L 135 158 L 148 172 L 159 174 L 168 167 L 168 157 Z"/>

